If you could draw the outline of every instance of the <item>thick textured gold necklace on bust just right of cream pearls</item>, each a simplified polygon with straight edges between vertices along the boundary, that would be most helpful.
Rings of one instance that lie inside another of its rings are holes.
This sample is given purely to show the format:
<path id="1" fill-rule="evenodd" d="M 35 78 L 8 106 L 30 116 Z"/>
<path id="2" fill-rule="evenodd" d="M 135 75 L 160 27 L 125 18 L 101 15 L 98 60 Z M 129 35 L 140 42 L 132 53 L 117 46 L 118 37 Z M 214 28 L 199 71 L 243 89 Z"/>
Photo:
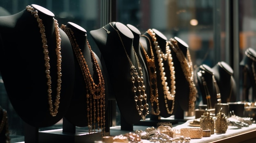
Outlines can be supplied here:
<path id="1" fill-rule="evenodd" d="M 170 44 L 172 44 L 172 49 L 176 53 L 176 56 L 180 62 L 182 67 L 182 71 L 186 80 L 189 82 L 189 112 L 193 112 L 195 108 L 195 96 L 197 94 L 197 90 L 195 88 L 194 77 L 193 77 L 193 65 L 190 57 L 189 50 L 187 50 L 187 58 L 180 50 L 178 43 L 175 39 L 170 39 Z"/>

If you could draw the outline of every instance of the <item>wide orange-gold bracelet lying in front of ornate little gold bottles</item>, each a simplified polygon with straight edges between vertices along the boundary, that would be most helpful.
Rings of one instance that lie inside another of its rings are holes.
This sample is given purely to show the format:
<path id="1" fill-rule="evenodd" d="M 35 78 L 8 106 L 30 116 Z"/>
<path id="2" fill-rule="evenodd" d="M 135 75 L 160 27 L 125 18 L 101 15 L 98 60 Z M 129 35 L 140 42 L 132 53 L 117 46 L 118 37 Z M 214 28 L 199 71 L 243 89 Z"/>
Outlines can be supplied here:
<path id="1" fill-rule="evenodd" d="M 191 139 L 201 139 L 203 137 L 202 128 L 182 128 L 180 129 L 180 135 L 184 137 L 190 137 Z"/>

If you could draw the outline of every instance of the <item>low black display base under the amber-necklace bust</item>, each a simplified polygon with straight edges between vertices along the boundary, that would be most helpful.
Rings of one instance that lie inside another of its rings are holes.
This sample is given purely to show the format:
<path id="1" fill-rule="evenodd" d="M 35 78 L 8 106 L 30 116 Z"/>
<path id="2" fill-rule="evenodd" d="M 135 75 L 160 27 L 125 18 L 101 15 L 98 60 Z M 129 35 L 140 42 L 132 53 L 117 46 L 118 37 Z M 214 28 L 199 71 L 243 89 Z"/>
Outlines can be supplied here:
<path id="1" fill-rule="evenodd" d="M 39 143 L 94 143 L 101 141 L 101 132 L 77 131 L 64 133 L 62 129 L 38 132 Z"/>

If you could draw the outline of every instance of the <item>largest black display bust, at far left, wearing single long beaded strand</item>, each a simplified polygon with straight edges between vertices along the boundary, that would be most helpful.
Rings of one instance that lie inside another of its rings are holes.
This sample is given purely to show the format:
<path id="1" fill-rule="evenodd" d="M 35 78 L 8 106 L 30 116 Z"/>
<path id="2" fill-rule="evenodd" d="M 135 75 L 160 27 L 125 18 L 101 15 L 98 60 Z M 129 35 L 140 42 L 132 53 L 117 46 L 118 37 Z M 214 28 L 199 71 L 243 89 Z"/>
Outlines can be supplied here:
<path id="1" fill-rule="evenodd" d="M 36 4 L 39 18 L 45 26 L 52 77 L 52 101 L 57 87 L 56 35 L 54 14 Z M 0 69 L 9 100 L 25 123 L 47 127 L 60 121 L 68 110 L 74 86 L 74 57 L 67 35 L 61 35 L 61 94 L 58 113 L 49 113 L 48 86 L 45 74 L 43 44 L 38 22 L 26 9 L 0 17 Z"/>

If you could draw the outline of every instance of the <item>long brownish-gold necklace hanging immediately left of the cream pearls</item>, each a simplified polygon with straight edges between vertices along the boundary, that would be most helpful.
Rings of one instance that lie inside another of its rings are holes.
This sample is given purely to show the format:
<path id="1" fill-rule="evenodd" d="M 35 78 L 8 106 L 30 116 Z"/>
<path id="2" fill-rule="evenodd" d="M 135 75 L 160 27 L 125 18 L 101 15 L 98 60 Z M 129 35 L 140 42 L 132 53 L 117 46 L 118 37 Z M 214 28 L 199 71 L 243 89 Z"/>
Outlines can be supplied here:
<path id="1" fill-rule="evenodd" d="M 143 49 L 144 55 L 146 57 L 146 62 L 148 65 L 148 69 L 149 69 L 149 82 L 150 82 L 150 103 L 151 103 L 151 114 L 153 115 L 159 115 L 160 114 L 160 110 L 159 110 L 159 101 L 158 101 L 158 90 L 157 90 L 157 72 L 156 72 L 156 67 L 155 67 L 155 57 L 154 57 L 154 53 L 153 53 L 153 49 L 150 43 L 150 39 L 145 36 L 145 35 L 141 35 L 141 37 L 146 37 L 149 44 L 150 44 L 150 55 L 151 58 L 149 57 L 148 53 L 146 52 L 145 48 L 142 46 L 141 43 L 139 43 L 141 45 L 141 48 Z M 153 106 L 154 103 L 156 103 L 156 111 L 154 110 Z"/>

